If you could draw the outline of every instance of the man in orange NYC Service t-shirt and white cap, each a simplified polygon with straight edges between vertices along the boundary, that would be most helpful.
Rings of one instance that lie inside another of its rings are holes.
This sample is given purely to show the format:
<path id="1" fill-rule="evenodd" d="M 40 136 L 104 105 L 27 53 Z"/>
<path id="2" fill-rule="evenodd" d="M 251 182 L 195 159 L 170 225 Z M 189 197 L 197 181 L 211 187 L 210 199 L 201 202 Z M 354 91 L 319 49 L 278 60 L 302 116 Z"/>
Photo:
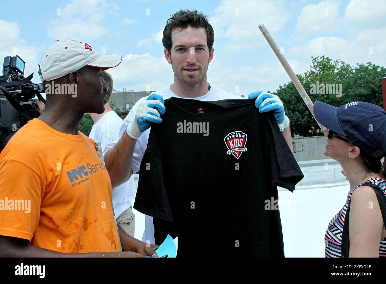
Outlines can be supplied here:
<path id="1" fill-rule="evenodd" d="M 104 111 L 101 71 L 121 60 L 75 40 L 56 41 L 42 56 L 45 111 L 0 154 L 0 257 L 157 257 L 158 246 L 117 231 L 108 172 L 78 131 L 84 113 Z"/>

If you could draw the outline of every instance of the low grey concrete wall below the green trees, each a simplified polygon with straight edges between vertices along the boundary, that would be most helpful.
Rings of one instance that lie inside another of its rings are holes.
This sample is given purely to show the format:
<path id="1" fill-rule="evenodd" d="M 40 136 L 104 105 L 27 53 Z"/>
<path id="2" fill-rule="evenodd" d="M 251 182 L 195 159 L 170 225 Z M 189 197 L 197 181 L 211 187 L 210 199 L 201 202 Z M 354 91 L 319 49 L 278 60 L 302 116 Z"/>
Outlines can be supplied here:
<path id="1" fill-rule="evenodd" d="M 294 145 L 293 155 L 296 161 L 310 161 L 326 159 L 323 154 L 326 150 L 325 136 L 295 137 L 292 138 Z"/>

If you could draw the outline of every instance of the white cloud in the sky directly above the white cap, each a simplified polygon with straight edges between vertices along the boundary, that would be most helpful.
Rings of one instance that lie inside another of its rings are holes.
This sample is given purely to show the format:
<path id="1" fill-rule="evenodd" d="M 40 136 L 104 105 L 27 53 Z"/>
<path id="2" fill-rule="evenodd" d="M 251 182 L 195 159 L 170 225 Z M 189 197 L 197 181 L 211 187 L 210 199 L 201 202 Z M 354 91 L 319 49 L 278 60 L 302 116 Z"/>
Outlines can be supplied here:
<path id="1" fill-rule="evenodd" d="M 108 32 L 100 24 L 108 7 L 104 0 L 73 0 L 59 8 L 58 19 L 47 25 L 47 35 L 53 39 L 97 39 Z"/>

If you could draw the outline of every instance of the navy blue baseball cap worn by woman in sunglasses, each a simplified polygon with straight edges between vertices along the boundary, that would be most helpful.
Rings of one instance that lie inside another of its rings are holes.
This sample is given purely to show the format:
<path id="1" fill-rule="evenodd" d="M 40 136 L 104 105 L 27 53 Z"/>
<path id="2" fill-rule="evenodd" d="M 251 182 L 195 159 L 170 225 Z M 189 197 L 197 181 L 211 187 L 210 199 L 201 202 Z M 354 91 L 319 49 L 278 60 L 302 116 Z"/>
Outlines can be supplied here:
<path id="1" fill-rule="evenodd" d="M 316 101 L 316 120 L 324 127 L 347 136 L 355 146 L 375 158 L 386 154 L 386 111 L 368 102 L 350 102 L 341 107 Z"/>

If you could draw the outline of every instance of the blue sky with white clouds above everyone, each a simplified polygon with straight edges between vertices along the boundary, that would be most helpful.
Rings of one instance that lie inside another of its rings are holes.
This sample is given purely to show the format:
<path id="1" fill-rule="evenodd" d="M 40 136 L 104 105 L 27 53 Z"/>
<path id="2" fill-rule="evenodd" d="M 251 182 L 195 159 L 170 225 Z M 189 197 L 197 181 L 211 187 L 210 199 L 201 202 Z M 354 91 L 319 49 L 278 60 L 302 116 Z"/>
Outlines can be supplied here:
<path id="1" fill-rule="evenodd" d="M 99 53 L 123 56 L 121 65 L 109 70 L 117 90 L 171 84 L 162 31 L 169 15 L 181 8 L 208 15 L 215 32 L 208 82 L 234 94 L 273 91 L 289 81 L 259 31 L 261 23 L 295 73 L 309 69 L 311 56 L 319 55 L 352 65 L 386 65 L 382 0 L 1 0 L 0 5 L 10 5 L 8 11 L 20 8 L 0 15 L 0 58 L 18 54 L 26 61 L 26 75 L 35 73 L 33 82 L 40 82 L 38 62 L 49 45 L 70 38 Z"/>

